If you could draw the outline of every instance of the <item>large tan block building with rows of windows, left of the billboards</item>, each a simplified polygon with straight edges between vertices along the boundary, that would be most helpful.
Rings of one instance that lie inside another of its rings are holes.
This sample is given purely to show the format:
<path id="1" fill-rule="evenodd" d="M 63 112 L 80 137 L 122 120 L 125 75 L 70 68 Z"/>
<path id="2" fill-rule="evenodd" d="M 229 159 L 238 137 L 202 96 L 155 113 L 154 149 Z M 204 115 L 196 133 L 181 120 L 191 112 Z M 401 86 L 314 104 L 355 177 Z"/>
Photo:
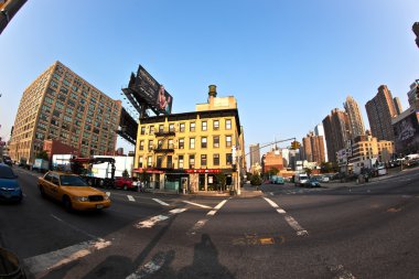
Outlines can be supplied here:
<path id="1" fill-rule="evenodd" d="M 33 163 L 44 140 L 78 154 L 115 151 L 121 101 L 114 100 L 56 61 L 23 92 L 10 140 L 10 157 Z"/>

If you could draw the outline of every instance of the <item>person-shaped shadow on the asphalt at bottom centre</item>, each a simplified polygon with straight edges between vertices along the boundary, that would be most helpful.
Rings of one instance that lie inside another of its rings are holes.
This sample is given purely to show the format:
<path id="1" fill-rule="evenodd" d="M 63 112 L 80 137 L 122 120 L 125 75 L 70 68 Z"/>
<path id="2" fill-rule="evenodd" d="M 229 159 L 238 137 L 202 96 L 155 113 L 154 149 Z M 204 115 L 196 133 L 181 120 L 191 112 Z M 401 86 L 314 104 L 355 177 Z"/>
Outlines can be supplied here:
<path id="1" fill-rule="evenodd" d="M 234 278 L 229 270 L 219 264 L 218 250 L 207 234 L 203 234 L 201 242 L 195 244 L 192 265 L 182 268 L 178 273 L 178 279 L 191 278 Z"/>

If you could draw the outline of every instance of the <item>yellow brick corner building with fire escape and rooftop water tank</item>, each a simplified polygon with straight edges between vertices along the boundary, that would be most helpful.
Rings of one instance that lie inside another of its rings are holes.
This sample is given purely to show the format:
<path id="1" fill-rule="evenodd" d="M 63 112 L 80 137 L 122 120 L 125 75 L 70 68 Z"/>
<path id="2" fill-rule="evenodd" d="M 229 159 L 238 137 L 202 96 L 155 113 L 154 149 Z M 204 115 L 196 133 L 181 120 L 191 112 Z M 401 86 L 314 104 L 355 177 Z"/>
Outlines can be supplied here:
<path id="1" fill-rule="evenodd" d="M 234 97 L 216 97 L 196 111 L 139 120 L 135 172 L 147 173 L 148 185 L 192 193 L 233 187 L 239 192 L 245 174 L 244 133 Z M 227 186 L 218 187 L 221 173 Z"/>

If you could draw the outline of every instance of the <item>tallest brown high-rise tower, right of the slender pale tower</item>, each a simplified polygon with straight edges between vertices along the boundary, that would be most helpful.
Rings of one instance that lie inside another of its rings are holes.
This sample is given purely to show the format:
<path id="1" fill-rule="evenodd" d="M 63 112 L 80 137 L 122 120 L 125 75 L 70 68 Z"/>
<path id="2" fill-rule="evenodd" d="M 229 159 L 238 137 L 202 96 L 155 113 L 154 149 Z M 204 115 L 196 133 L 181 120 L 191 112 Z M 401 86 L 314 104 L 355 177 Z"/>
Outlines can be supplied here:
<path id="1" fill-rule="evenodd" d="M 378 87 L 376 96 L 365 105 L 373 137 L 378 140 L 395 140 L 391 118 L 397 116 L 391 92 L 386 85 Z"/>

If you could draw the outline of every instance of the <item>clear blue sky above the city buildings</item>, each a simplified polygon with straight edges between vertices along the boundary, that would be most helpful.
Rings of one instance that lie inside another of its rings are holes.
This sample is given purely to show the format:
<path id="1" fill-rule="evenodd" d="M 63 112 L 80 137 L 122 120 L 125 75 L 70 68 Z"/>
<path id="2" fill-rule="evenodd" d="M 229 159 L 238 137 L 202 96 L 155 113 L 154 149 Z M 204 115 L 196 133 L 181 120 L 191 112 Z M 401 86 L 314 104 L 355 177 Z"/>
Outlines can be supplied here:
<path id="1" fill-rule="evenodd" d="M 215 84 L 237 98 L 246 146 L 301 139 L 348 94 L 369 126 L 365 104 L 382 84 L 407 108 L 418 11 L 417 0 L 28 1 L 0 35 L 0 135 L 57 60 L 116 99 L 141 64 L 173 112 Z"/>

